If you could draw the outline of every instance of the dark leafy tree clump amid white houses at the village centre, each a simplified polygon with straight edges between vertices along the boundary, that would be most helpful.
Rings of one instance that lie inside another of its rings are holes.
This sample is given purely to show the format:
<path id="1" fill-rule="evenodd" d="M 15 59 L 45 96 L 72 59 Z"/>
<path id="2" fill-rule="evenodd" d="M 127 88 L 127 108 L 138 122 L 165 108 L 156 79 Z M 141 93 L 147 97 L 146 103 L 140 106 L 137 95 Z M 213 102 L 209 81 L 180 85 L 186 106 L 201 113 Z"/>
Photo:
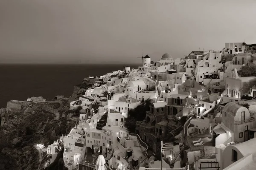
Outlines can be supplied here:
<path id="1" fill-rule="evenodd" d="M 151 99 L 146 99 L 143 104 L 138 105 L 136 108 L 131 109 L 128 112 L 128 117 L 125 119 L 125 127 L 130 132 L 135 132 L 137 121 L 142 121 L 145 119 L 146 111 L 149 111 L 150 104 Z"/>

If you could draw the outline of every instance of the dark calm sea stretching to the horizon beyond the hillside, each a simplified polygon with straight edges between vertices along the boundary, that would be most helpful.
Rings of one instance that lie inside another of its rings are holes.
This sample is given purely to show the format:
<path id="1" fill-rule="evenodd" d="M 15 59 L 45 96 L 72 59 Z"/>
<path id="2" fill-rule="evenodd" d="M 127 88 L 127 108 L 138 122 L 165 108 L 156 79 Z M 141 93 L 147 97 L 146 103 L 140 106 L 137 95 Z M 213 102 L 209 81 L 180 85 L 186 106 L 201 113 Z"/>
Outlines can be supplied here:
<path id="1" fill-rule="evenodd" d="M 141 64 L 125 64 L 138 68 Z M 124 70 L 124 64 L 0 64 L 0 108 L 10 100 L 32 96 L 71 96 L 74 86 L 89 76 Z"/>

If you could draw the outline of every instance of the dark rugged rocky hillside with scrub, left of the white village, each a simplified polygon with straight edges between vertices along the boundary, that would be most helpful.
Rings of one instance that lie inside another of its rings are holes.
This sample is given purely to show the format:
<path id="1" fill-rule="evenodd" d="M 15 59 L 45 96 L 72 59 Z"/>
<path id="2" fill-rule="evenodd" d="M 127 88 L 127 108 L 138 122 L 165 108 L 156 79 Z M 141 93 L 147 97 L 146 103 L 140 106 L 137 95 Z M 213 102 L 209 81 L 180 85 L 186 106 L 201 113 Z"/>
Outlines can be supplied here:
<path id="1" fill-rule="evenodd" d="M 35 146 L 48 146 L 70 132 L 75 122 L 68 118 L 69 108 L 69 98 L 8 102 L 1 110 L 6 120 L 0 130 L 0 170 L 44 169 L 47 159 Z"/>

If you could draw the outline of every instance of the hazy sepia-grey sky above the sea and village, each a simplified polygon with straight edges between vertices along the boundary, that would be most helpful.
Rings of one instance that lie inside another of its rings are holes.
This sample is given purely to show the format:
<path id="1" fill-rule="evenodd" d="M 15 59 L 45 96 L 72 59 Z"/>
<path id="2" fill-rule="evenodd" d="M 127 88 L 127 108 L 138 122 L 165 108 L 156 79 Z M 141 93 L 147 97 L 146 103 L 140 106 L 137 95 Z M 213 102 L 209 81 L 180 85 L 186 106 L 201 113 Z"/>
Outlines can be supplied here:
<path id="1" fill-rule="evenodd" d="M 0 63 L 140 63 L 256 43 L 256 0 L 0 0 Z"/>

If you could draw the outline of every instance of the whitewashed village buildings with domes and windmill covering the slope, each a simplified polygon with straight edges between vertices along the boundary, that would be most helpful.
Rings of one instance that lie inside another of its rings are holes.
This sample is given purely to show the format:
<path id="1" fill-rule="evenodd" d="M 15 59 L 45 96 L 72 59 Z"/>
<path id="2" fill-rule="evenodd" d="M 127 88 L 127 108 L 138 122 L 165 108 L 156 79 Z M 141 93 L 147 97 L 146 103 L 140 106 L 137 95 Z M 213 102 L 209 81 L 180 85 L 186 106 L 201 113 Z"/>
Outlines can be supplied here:
<path id="1" fill-rule="evenodd" d="M 48 146 L 50 161 L 64 147 L 69 170 L 97 169 L 99 155 L 110 170 L 253 169 L 256 77 L 238 71 L 254 62 L 254 52 L 244 43 L 225 43 L 221 51 L 192 51 L 185 58 L 164 54 L 153 62 L 146 55 L 138 69 L 89 77 L 93 87 L 70 102 L 84 112 L 67 136 Z M 129 111 L 147 99 L 145 119 L 128 132 Z M 170 145 L 157 160 L 161 141 Z"/>

